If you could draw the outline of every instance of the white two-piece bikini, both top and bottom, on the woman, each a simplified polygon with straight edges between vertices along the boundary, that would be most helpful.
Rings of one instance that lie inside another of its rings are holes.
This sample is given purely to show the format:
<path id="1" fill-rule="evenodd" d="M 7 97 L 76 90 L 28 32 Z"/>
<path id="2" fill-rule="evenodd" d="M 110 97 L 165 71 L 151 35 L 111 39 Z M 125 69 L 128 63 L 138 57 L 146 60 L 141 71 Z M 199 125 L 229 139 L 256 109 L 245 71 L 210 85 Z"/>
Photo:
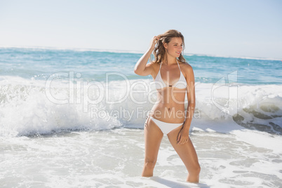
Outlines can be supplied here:
<path id="1" fill-rule="evenodd" d="M 159 72 L 156 75 L 156 79 L 154 80 L 154 83 L 156 84 L 156 89 L 163 89 L 166 87 L 175 87 L 175 88 L 180 88 L 180 89 L 187 88 L 186 79 L 181 72 L 181 69 L 180 69 L 180 66 L 177 60 L 176 62 L 180 70 L 180 78 L 178 79 L 178 81 L 175 82 L 173 85 L 166 85 L 163 79 L 161 79 L 161 65 L 160 65 Z M 148 116 L 146 117 L 146 121 L 147 121 L 147 118 Z M 163 121 L 159 121 L 158 119 L 154 119 L 152 116 L 150 116 L 150 119 L 152 119 L 152 121 L 154 121 L 154 123 L 156 123 L 156 125 L 159 126 L 159 128 L 161 129 L 161 132 L 163 132 L 164 135 L 167 135 L 168 133 L 170 133 L 171 130 L 183 125 L 183 123 L 166 123 Z M 145 126 L 146 125 L 147 123 L 145 123 Z"/>

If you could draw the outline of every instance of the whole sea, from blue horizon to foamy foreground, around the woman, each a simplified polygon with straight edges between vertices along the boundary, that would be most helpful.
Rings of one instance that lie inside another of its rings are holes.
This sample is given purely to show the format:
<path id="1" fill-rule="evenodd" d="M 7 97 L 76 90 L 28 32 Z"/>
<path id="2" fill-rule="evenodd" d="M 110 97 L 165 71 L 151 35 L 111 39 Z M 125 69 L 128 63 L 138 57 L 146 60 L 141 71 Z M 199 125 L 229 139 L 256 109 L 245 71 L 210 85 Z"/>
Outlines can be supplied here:
<path id="1" fill-rule="evenodd" d="M 141 177 L 145 52 L 0 48 L 0 187 L 282 187 L 282 61 L 185 53 L 198 184 L 165 135 Z M 185 100 L 187 107 L 187 99 Z"/>

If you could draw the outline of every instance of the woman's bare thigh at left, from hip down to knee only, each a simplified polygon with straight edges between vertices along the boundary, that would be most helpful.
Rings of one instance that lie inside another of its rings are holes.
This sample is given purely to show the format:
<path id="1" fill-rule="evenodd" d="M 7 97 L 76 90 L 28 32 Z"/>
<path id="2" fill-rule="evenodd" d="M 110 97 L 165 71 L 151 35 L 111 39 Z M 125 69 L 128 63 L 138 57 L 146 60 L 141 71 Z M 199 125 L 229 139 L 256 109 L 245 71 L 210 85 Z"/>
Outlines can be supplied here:
<path id="1" fill-rule="evenodd" d="M 146 119 L 147 124 L 144 126 L 145 135 L 145 159 L 149 161 L 156 161 L 158 156 L 159 147 L 163 133 L 161 129 L 156 126 L 156 123 L 149 117 Z"/>

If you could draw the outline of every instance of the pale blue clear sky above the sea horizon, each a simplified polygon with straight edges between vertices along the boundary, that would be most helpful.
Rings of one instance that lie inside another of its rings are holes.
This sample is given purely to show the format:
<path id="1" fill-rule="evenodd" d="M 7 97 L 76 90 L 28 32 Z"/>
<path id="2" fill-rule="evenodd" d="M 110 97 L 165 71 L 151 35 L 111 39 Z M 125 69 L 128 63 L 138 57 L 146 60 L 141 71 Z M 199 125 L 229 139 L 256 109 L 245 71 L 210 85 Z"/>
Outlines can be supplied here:
<path id="1" fill-rule="evenodd" d="M 184 53 L 282 60 L 280 0 L 0 0 L 0 46 L 144 53 L 168 29 Z"/>

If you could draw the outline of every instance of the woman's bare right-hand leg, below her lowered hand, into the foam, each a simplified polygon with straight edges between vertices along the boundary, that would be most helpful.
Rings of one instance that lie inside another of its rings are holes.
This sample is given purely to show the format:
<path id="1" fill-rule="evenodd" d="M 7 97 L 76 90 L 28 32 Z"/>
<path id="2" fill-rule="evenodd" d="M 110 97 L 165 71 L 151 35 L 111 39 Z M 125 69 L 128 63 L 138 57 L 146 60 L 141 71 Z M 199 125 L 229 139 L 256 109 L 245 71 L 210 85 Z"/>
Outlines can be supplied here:
<path id="1" fill-rule="evenodd" d="M 182 126 L 175 128 L 168 133 L 168 140 L 173 145 L 175 151 L 182 159 L 184 165 L 188 170 L 187 182 L 199 182 L 199 174 L 201 167 L 199 165 L 198 156 L 196 150 L 189 138 L 189 141 L 184 145 L 177 145 L 177 135 L 181 130 Z"/>

